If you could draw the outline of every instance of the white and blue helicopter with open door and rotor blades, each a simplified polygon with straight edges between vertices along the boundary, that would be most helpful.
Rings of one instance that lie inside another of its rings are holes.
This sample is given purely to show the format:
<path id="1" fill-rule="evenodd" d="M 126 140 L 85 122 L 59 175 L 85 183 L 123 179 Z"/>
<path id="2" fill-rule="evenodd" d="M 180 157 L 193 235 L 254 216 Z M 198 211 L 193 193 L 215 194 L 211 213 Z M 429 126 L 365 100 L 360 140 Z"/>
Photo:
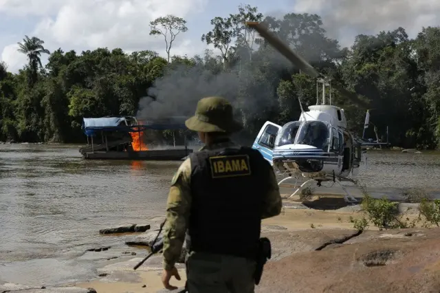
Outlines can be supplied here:
<path id="1" fill-rule="evenodd" d="M 371 146 L 388 145 L 388 128 L 386 142 L 380 142 L 379 139 L 377 142 L 366 141 L 364 134 L 360 138 L 349 131 L 344 109 L 331 105 L 331 91 L 329 91 L 329 103 L 327 103 L 325 89 L 326 87 L 331 89 L 331 78 L 317 72 L 307 61 L 267 30 L 262 23 L 247 22 L 246 25 L 259 32 L 267 43 L 275 47 L 302 72 L 316 78 L 317 82 L 316 105 L 311 105 L 308 107 L 309 111 L 304 111 L 298 98 L 301 109 L 298 120 L 287 122 L 283 126 L 270 121 L 265 122 L 252 144 L 252 149 L 258 150 L 275 171 L 287 175 L 278 182 L 278 185 L 288 180 L 296 180 L 296 186 L 301 176 L 307 179 L 290 197 L 312 182 L 316 182 L 318 186 L 321 186 L 322 182 L 333 182 L 344 191 L 345 202 L 349 204 L 358 202 L 341 182 L 357 184 L 353 178 L 360 171 L 362 157 L 364 157 L 366 166 L 366 149 Z M 322 85 L 320 105 L 319 83 Z M 368 108 L 368 103 L 359 98 L 357 94 L 347 91 L 338 84 L 333 85 L 333 88 L 353 103 Z M 367 109 L 364 130 L 369 126 L 369 114 Z"/>

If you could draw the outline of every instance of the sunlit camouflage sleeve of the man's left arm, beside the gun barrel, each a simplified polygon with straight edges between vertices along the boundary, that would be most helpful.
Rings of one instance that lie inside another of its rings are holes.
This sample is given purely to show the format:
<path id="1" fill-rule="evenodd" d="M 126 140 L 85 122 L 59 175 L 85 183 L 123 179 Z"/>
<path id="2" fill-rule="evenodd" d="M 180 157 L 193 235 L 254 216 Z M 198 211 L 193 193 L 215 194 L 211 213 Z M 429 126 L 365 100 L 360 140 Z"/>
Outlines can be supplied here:
<path id="1" fill-rule="evenodd" d="M 171 182 L 166 203 L 166 224 L 164 227 L 164 269 L 171 270 L 181 254 L 190 215 L 191 162 L 186 159 Z"/>

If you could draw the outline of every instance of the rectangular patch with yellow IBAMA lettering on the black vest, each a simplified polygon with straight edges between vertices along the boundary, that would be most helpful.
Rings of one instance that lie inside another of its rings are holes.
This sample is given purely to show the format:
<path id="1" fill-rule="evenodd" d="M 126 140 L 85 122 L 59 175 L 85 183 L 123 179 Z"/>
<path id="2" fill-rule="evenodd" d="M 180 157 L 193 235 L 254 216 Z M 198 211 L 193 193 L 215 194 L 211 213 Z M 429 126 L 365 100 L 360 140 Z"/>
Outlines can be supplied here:
<path id="1" fill-rule="evenodd" d="M 209 158 L 212 178 L 250 175 L 248 155 L 222 155 Z"/>

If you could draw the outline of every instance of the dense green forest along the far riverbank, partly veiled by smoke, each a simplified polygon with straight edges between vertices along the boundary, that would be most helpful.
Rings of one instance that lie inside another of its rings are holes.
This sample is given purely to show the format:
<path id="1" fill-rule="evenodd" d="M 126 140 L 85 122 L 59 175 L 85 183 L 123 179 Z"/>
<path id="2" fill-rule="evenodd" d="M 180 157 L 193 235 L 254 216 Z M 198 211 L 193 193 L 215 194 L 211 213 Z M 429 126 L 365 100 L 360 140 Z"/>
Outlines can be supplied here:
<path id="1" fill-rule="evenodd" d="M 316 80 L 299 72 L 244 21 L 264 21 L 318 71 L 370 100 L 370 122 L 395 146 L 440 146 L 440 28 L 423 28 L 410 39 L 404 28 L 360 34 L 351 47 L 330 39 L 316 14 L 266 17 L 251 6 L 215 17 L 201 45 L 203 56 L 174 56 L 186 21 L 167 15 L 150 23 L 164 40 L 166 58 L 120 48 L 49 52 L 36 36 L 19 43 L 28 64 L 17 74 L 0 63 L 0 141 L 85 142 L 84 117 L 131 115 L 142 119 L 189 116 L 203 96 L 221 95 L 236 106 L 241 137 L 252 139 L 266 120 L 283 124 L 316 104 Z M 41 58 L 47 54 L 43 67 Z M 349 128 L 362 134 L 365 109 L 331 90 Z M 373 138 L 373 128 L 368 136 Z M 166 135 L 166 133 L 164 133 Z"/>

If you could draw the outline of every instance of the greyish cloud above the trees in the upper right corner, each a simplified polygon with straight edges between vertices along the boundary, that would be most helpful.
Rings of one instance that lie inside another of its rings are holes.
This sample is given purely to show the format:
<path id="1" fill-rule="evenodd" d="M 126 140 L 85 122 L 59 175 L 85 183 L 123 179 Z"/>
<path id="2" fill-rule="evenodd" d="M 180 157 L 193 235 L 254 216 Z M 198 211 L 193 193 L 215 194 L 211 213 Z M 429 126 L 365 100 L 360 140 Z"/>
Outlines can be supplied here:
<path id="1" fill-rule="evenodd" d="M 439 25 L 438 0 L 296 0 L 296 13 L 322 17 L 330 36 L 351 45 L 357 34 L 404 28 L 415 36 L 423 26 Z"/>

